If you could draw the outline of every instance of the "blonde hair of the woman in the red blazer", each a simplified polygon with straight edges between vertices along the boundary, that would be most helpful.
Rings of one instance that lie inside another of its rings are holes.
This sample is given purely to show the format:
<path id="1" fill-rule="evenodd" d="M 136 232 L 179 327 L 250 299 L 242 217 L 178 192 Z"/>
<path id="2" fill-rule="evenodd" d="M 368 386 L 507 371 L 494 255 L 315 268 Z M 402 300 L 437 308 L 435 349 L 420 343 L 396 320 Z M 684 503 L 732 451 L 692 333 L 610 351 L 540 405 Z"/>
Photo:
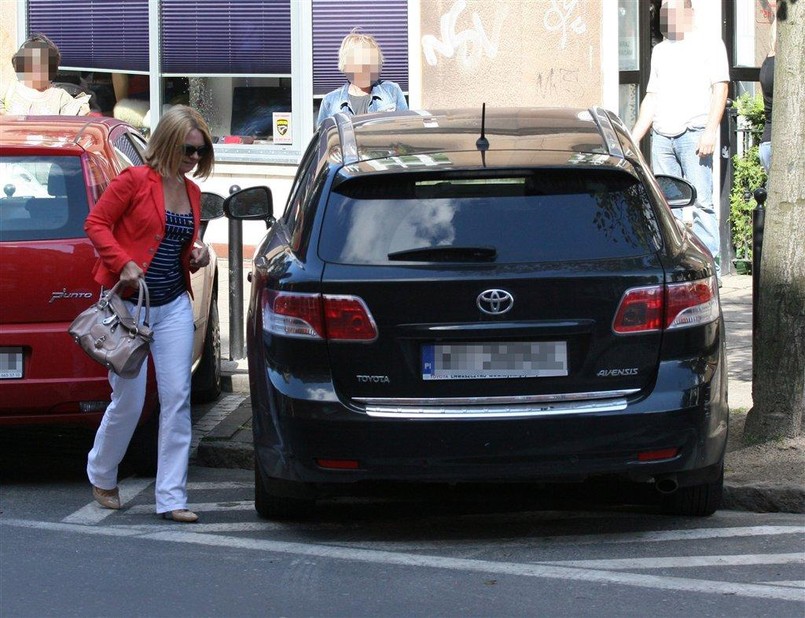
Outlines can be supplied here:
<path id="1" fill-rule="evenodd" d="M 162 176 L 177 176 L 184 157 L 184 140 L 193 129 L 204 136 L 204 146 L 207 148 L 207 152 L 199 159 L 193 176 L 207 178 L 212 173 L 215 160 L 212 136 L 203 116 L 187 105 L 174 105 L 160 118 L 148 140 L 145 162 Z"/>

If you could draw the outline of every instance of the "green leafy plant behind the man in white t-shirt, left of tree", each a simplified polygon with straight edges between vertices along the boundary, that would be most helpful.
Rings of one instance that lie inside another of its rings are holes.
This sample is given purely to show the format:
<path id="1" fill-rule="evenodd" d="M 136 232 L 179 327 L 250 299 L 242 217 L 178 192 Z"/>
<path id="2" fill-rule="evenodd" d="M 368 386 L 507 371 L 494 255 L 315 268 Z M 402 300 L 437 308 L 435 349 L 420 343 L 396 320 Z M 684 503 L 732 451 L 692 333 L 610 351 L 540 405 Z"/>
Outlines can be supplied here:
<path id="1" fill-rule="evenodd" d="M 766 172 L 760 165 L 758 144 L 763 134 L 763 99 L 742 94 L 734 104 L 739 124 L 749 133 L 743 154 L 732 157 L 733 177 L 730 191 L 730 230 L 735 257 L 752 259 L 752 211 L 757 206 L 753 192 L 766 184 Z"/>

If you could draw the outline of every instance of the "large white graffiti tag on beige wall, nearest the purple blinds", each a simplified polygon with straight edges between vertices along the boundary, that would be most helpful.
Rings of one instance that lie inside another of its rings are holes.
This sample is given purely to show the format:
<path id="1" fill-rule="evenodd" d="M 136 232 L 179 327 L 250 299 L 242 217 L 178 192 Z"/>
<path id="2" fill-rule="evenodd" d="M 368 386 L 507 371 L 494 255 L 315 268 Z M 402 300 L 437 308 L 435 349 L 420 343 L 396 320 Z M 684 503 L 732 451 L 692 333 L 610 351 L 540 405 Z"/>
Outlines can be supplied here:
<path id="1" fill-rule="evenodd" d="M 481 23 L 481 18 L 475 12 L 470 17 L 472 27 L 457 31 L 459 17 L 466 8 L 466 0 L 456 0 L 450 10 L 439 20 L 441 38 L 432 34 L 422 37 L 422 50 L 425 61 L 429 65 L 438 64 L 437 54 L 445 58 L 455 56 L 466 67 L 477 66 L 484 56 L 487 58 L 497 56 L 500 31 L 508 9 L 505 5 L 498 8 L 492 35 L 489 36 Z"/>

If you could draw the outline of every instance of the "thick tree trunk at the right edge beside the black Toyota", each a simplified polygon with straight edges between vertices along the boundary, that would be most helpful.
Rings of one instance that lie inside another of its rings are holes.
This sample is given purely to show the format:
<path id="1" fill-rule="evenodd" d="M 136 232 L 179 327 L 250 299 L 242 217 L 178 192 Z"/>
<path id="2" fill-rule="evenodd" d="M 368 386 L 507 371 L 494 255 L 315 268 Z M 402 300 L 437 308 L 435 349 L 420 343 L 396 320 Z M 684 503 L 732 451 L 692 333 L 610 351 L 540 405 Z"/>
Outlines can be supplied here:
<path id="1" fill-rule="evenodd" d="M 798 435 L 805 409 L 805 1 L 787 5 L 778 23 L 747 440 Z"/>

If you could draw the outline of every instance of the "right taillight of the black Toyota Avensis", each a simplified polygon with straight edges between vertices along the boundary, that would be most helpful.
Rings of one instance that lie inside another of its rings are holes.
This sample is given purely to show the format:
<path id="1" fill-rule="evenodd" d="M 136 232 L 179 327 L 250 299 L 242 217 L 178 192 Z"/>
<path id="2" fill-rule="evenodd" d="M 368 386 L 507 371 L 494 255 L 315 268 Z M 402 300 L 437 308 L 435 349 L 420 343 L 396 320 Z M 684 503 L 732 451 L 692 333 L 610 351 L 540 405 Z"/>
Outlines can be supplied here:
<path id="1" fill-rule="evenodd" d="M 612 330 L 625 335 L 676 330 L 718 319 L 715 280 L 655 285 L 627 290 L 621 299 Z"/>

